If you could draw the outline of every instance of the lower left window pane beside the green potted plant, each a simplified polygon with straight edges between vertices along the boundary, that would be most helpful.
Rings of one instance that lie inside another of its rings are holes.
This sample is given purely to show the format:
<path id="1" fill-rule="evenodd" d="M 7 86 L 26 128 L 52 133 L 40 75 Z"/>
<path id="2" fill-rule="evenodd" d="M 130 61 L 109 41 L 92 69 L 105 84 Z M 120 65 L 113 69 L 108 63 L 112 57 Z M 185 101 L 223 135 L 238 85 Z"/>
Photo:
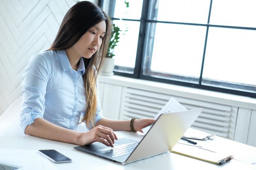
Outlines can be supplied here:
<path id="1" fill-rule="evenodd" d="M 114 49 L 115 65 L 134 68 L 140 23 L 122 20 L 114 20 L 113 23 L 121 30 L 119 42 Z"/>

